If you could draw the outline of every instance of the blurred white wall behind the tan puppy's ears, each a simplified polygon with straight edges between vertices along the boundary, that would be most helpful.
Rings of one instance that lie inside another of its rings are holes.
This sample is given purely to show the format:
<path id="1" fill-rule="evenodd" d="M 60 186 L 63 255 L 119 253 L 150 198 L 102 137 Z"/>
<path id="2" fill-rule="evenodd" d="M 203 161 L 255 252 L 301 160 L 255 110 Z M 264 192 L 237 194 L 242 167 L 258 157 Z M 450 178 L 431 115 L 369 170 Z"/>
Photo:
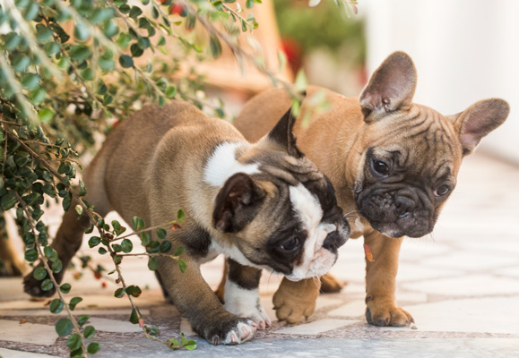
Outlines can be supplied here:
<path id="1" fill-rule="evenodd" d="M 391 52 L 411 55 L 418 70 L 415 102 L 449 115 L 483 98 L 512 111 L 482 141 L 519 164 L 519 1 L 359 0 L 368 30 L 368 71 Z"/>

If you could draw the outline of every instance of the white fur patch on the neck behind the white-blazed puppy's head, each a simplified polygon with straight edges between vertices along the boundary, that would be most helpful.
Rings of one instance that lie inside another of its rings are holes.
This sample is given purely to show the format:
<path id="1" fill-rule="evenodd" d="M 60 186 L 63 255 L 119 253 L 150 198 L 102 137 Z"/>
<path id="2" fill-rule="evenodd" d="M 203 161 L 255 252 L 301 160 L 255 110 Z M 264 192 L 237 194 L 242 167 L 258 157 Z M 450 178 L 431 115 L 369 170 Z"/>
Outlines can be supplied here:
<path id="1" fill-rule="evenodd" d="M 203 181 L 221 187 L 230 176 L 237 173 L 259 173 L 257 164 L 242 164 L 236 160 L 236 149 L 243 143 L 221 143 L 212 152 L 203 171 Z"/>

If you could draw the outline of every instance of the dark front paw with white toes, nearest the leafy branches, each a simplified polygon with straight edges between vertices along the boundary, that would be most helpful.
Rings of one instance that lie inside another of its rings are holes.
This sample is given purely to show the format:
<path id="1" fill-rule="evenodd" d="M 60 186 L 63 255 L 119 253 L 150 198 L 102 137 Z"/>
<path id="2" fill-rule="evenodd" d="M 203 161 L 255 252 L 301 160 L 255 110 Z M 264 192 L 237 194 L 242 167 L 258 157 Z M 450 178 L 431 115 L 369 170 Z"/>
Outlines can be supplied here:
<path id="1" fill-rule="evenodd" d="M 252 320 L 229 315 L 227 320 L 218 320 L 212 325 L 204 325 L 202 329 L 197 330 L 213 345 L 239 345 L 254 337 L 256 327 Z"/>

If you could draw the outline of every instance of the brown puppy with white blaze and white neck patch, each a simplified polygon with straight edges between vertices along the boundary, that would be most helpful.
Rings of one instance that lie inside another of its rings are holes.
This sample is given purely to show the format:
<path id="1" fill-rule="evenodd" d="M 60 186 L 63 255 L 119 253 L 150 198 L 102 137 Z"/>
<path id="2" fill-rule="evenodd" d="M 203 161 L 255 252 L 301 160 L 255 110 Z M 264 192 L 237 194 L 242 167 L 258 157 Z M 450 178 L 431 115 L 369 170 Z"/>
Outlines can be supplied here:
<path id="1" fill-rule="evenodd" d="M 157 226 L 185 211 L 184 227 L 167 240 L 186 248 L 186 272 L 160 256 L 158 274 L 178 311 L 213 344 L 235 345 L 270 325 L 259 303 L 262 268 L 294 281 L 324 275 L 350 233 L 332 184 L 296 147 L 290 111 L 280 117 L 253 145 L 186 102 L 146 107 L 108 135 L 85 171 L 85 199 L 101 216 L 116 210 L 126 222 L 138 216 Z M 74 210 L 65 213 L 52 243 L 64 267 L 82 226 Z M 230 268 L 225 308 L 199 269 L 220 253 Z M 32 275 L 25 291 L 49 294 Z"/>

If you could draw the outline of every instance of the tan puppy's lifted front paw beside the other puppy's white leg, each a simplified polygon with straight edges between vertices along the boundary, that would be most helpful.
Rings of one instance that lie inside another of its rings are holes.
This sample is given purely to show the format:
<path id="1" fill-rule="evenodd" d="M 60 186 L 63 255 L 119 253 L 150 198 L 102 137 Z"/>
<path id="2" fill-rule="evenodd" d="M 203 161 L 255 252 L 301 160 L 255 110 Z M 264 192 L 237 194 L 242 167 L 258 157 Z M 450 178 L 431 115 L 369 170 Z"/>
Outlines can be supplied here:
<path id="1" fill-rule="evenodd" d="M 318 279 L 308 278 L 293 282 L 283 278 L 272 299 L 278 320 L 293 324 L 303 317 L 310 317 L 316 311 L 319 288 Z"/>

